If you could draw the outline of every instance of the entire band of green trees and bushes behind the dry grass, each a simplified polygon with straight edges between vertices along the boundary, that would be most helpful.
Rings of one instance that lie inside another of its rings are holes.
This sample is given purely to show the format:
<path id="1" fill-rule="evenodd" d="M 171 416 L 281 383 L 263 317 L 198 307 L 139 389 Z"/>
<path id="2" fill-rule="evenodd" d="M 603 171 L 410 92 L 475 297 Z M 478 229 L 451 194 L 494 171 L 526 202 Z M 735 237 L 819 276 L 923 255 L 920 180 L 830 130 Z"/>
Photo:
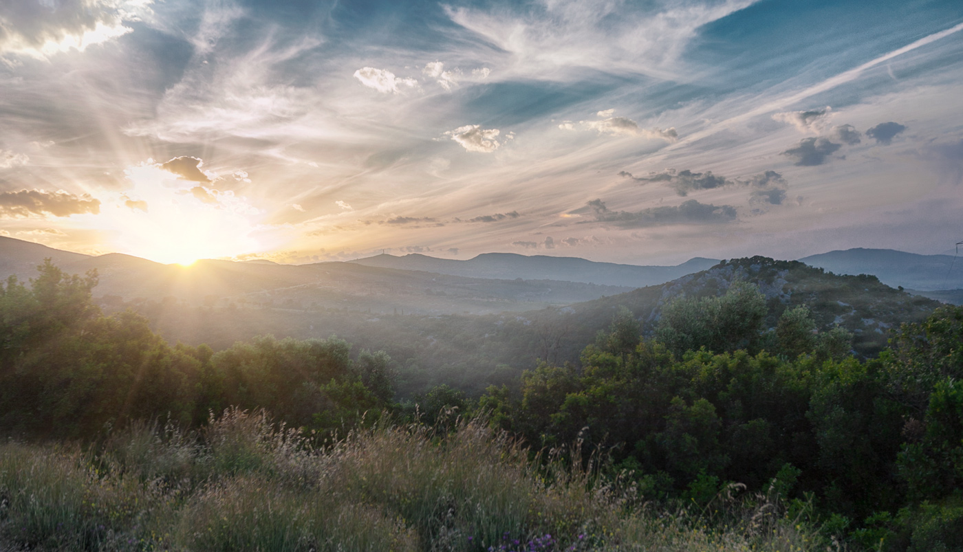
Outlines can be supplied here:
<path id="1" fill-rule="evenodd" d="M 779 274 L 786 273 L 772 278 Z M 285 427 L 300 428 L 299 443 L 309 448 L 347 442 L 338 439 L 378 420 L 382 428 L 429 424 L 439 432 L 429 441 L 442 446 L 446 432 L 461 431 L 457 417 L 479 409 L 498 431 L 543 450 L 533 458 L 526 452 L 525 462 L 591 461 L 599 481 L 630 481 L 645 500 L 704 508 L 745 486 L 787 501 L 790 517 L 811 514 L 855 547 L 958 550 L 963 308 L 903 324 L 867 360 L 851 355 L 858 336 L 827 326 L 809 308 L 791 301 L 773 318 L 763 285 L 737 281 L 716 292 L 712 282 L 666 302 L 656 319 L 616 311 L 578 363 L 542 362 L 518 380 L 508 371 L 499 376 L 504 385 L 478 400 L 453 377 L 450 387 L 398 404 L 396 365 L 382 352 L 352 353 L 333 338 L 261 337 L 219 352 L 169 345 L 140 314 L 101 314 L 91 303 L 95 274 L 68 276 L 44 263 L 30 286 L 14 278 L 0 286 L 0 431 L 103 443 L 135 420 L 202 429 L 181 452 L 163 452 L 176 464 L 177 454 L 214 446 L 211 413 L 228 408 L 241 409 L 231 411 L 238 419 L 267 409 Z M 567 330 L 545 320 L 519 328 L 536 326 L 550 350 Z M 14 448 L 5 454 L 31 454 Z M 593 451 L 602 456 L 591 460 Z M 237 462 L 247 466 L 242 471 L 267 462 L 244 454 L 214 467 L 217 455 L 201 455 L 208 460 L 197 465 L 234 473 Z M 598 458 L 608 459 L 604 468 Z M 532 538 L 542 530 L 526 527 L 523 536 Z M 421 542 L 437 538 L 426 535 Z"/>

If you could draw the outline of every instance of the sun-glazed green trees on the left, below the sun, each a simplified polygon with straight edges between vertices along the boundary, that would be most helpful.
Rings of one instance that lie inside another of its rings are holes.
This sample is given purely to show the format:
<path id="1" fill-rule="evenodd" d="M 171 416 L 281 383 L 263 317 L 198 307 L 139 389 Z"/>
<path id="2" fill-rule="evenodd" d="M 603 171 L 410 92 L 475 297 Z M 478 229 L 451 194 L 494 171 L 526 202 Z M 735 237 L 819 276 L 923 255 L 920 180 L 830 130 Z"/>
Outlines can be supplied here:
<path id="1" fill-rule="evenodd" d="M 341 339 L 261 337 L 215 353 L 170 346 L 140 314 L 103 316 L 96 275 L 45 263 L 27 288 L 0 287 L 0 428 L 13 436 L 91 438 L 134 419 L 195 427 L 228 406 L 266 408 L 334 431 L 394 395 L 389 360 Z M 372 420 L 369 420 L 372 421 Z"/>

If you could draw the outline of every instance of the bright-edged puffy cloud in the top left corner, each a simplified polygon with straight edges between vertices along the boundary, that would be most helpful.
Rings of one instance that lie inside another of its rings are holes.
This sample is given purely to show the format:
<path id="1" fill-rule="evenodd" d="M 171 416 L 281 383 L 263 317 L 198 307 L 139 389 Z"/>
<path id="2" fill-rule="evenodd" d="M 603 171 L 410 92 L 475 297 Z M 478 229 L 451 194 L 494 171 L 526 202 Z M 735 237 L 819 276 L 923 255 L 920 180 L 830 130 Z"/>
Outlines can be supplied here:
<path id="1" fill-rule="evenodd" d="M 13 0 L 0 3 L 0 54 L 47 59 L 59 52 L 83 52 L 133 31 L 149 0 Z"/>

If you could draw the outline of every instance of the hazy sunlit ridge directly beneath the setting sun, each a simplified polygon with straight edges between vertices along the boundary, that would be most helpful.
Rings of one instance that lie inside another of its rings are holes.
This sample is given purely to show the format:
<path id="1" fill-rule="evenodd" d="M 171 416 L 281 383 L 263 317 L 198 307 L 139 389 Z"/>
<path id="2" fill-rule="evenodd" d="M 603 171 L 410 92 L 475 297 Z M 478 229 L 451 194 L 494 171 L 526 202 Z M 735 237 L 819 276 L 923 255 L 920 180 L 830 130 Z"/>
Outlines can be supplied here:
<path id="1" fill-rule="evenodd" d="M 628 291 L 582 282 L 472 278 L 359 263 L 277 264 L 202 260 L 161 264 L 109 253 L 93 257 L 0 238 L 0 278 L 37 275 L 50 258 L 67 274 L 96 269 L 94 297 L 108 309 L 185 307 L 350 310 L 370 314 L 502 313 L 562 306 Z"/>

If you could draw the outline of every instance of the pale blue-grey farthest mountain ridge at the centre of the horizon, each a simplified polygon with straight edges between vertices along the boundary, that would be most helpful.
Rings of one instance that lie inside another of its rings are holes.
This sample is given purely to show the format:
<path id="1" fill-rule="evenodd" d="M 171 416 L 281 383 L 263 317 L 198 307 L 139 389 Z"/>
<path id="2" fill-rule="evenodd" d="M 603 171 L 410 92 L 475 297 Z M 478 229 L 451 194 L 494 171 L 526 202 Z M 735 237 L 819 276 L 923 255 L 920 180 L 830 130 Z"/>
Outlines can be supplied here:
<path id="1" fill-rule="evenodd" d="M 645 286 L 664 284 L 686 274 L 705 270 L 718 262 L 717 259 L 696 257 L 675 266 L 639 266 L 636 264 L 595 263 L 577 257 L 527 256 L 516 253 L 483 253 L 468 261 L 437 259 L 418 253 L 402 257 L 382 254 L 351 261 L 351 263 L 366 266 L 424 270 L 471 278 L 560 280 L 625 288 L 644 288 Z"/>

